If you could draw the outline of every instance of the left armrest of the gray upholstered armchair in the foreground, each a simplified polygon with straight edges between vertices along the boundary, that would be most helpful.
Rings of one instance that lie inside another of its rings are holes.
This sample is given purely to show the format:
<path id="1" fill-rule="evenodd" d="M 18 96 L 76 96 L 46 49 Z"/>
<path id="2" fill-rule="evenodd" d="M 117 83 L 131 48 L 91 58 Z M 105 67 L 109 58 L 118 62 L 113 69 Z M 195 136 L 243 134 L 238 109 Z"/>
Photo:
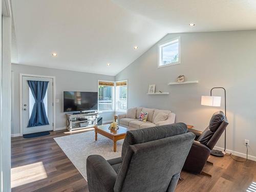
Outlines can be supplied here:
<path id="1" fill-rule="evenodd" d="M 100 155 L 90 155 L 86 167 L 90 192 L 114 192 L 117 174 L 108 161 Z"/>

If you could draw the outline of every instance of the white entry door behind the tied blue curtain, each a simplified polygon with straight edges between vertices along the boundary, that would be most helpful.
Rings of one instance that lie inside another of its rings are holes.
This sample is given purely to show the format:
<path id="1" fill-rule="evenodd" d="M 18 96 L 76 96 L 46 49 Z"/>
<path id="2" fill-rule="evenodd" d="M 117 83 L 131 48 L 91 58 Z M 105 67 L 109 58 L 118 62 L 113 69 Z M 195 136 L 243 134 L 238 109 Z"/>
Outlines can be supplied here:
<path id="1" fill-rule="evenodd" d="M 31 117 L 32 109 L 35 103 L 35 99 L 29 88 L 28 80 L 32 81 L 49 81 L 46 96 L 44 98 L 44 105 L 46 115 L 49 121 L 47 125 L 28 127 L 29 119 Z M 23 117 L 23 135 L 44 131 L 53 130 L 53 79 L 44 77 L 22 77 L 22 117 Z"/>

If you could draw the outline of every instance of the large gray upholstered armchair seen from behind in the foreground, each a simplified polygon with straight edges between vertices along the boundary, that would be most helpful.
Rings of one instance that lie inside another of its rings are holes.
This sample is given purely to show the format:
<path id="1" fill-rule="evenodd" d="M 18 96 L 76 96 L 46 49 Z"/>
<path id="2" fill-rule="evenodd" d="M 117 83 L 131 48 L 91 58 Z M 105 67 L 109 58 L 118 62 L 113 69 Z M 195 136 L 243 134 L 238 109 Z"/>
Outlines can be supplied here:
<path id="1" fill-rule="evenodd" d="M 90 192 L 172 192 L 195 139 L 184 123 L 129 131 L 120 158 L 87 158 Z"/>

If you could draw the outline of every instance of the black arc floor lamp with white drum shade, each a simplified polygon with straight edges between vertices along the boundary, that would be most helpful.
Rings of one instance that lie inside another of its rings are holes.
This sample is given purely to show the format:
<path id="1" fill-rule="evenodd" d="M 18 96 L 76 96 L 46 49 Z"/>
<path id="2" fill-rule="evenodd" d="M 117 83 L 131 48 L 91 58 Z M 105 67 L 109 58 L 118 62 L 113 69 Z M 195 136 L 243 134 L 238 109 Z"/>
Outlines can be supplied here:
<path id="1" fill-rule="evenodd" d="M 223 89 L 224 90 L 224 104 L 225 104 L 225 116 L 226 116 L 226 90 L 223 87 L 215 87 L 210 90 L 210 96 L 202 96 L 201 97 L 201 105 L 207 106 L 221 106 L 221 97 L 220 96 L 212 96 L 212 90 L 214 89 Z M 224 153 L 226 152 L 226 129 L 224 131 Z M 216 157 L 223 157 L 224 153 L 218 150 L 212 150 L 211 155 Z"/>

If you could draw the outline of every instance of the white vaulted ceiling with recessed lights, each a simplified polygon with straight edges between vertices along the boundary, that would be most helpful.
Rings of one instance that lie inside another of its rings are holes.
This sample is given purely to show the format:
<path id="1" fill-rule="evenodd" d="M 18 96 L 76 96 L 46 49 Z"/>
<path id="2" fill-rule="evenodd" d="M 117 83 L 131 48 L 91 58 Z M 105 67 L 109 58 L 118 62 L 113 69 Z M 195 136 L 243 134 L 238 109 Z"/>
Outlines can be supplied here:
<path id="1" fill-rule="evenodd" d="M 12 0 L 12 10 L 13 63 L 106 75 L 166 33 L 256 29 L 256 0 Z"/>

